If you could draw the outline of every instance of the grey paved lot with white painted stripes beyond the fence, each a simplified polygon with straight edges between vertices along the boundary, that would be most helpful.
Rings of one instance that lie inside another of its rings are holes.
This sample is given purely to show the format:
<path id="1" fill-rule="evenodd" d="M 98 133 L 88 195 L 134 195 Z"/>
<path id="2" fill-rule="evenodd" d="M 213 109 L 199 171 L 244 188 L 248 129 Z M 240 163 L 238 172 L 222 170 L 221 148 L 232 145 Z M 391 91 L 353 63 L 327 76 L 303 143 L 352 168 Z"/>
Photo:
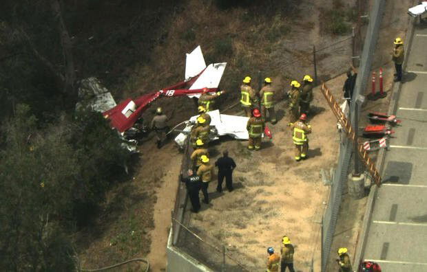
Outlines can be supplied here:
<path id="1" fill-rule="evenodd" d="M 382 271 L 427 271 L 427 25 L 416 27 L 365 260 Z"/>

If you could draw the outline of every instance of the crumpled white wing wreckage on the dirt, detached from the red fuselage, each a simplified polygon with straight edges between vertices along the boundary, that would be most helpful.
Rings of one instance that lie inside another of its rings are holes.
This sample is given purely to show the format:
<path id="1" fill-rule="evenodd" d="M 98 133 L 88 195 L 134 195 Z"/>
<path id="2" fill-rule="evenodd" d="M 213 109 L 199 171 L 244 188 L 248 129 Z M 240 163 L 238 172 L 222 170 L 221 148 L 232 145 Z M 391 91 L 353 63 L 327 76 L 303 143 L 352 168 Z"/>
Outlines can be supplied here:
<path id="1" fill-rule="evenodd" d="M 220 114 L 220 111 L 209 111 L 211 116 L 211 126 L 215 126 L 218 131 L 218 136 L 230 135 L 234 139 L 249 139 L 249 134 L 246 129 L 249 117 Z M 190 118 L 190 122 L 183 131 L 188 133 L 191 131 L 192 124 L 196 123 L 199 115 Z M 180 133 L 176 136 L 175 141 L 178 146 L 183 146 L 188 133 Z M 218 139 L 214 137 L 213 139 Z"/>

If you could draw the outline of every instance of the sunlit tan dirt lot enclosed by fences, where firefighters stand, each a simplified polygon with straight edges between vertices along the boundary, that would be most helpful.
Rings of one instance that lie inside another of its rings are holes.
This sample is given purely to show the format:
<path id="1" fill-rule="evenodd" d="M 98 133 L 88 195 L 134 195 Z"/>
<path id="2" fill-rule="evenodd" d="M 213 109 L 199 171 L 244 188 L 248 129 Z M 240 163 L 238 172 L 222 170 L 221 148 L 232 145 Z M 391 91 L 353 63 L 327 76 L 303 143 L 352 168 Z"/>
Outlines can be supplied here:
<path id="1" fill-rule="evenodd" d="M 342 76 L 327 83 L 337 98 L 342 98 L 344 80 Z M 282 117 L 279 107 L 280 121 L 270 125 L 273 140 L 264 139 L 260 151 L 247 150 L 247 141 L 223 141 L 213 147 L 212 161 L 226 149 L 235 159 L 237 189 L 218 193 L 214 179 L 209 185 L 211 203 L 202 204 L 202 212 L 191 216 L 191 227 L 217 238 L 229 251 L 250 256 L 258 269 L 264 267 L 267 247 L 280 249 L 284 235 L 297 246 L 295 267 L 299 271 L 309 271 L 312 258 L 316 263 L 320 258 L 320 221 L 329 196 L 320 169 L 335 165 L 338 144 L 335 117 L 320 90 L 314 93 L 309 159 L 293 159 L 289 117 Z"/>

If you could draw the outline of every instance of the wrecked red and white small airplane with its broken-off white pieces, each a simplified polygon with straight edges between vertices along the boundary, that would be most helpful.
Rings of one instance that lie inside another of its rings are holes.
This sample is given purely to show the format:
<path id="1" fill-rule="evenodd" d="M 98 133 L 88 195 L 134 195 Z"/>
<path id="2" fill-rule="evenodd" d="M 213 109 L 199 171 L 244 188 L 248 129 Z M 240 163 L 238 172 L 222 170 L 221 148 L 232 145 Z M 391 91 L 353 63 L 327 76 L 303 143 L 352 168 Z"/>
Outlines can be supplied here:
<path id="1" fill-rule="evenodd" d="M 132 141 L 132 151 L 134 151 L 136 150 L 137 141 L 132 135 L 141 131 L 144 132 L 142 133 L 143 135 L 148 133 L 147 128 L 141 128 L 140 117 L 154 100 L 161 97 L 171 98 L 181 95 L 187 95 L 189 98 L 198 98 L 204 88 L 208 88 L 209 92 L 215 93 L 218 90 L 218 84 L 220 84 L 226 65 L 227 63 L 213 63 L 207 66 L 199 45 L 193 52 L 187 54 L 185 80 L 183 82 L 141 95 L 135 99 L 128 98 L 120 104 L 116 104 L 111 93 L 101 87 L 98 80 L 89 78 L 84 81 L 85 84 L 82 84 L 85 88 L 82 88 L 81 96 L 91 97 L 85 104 L 90 106 L 93 111 L 101 112 L 105 118 L 110 120 L 110 125 L 112 128 L 116 128 L 124 141 Z M 85 94 L 85 89 L 89 90 L 90 95 Z M 81 107 L 83 107 L 83 104 L 79 102 L 76 108 Z M 234 139 L 249 139 L 246 129 L 248 117 L 224 115 L 220 114 L 218 110 L 209 112 L 209 115 L 211 115 L 212 119 L 211 133 L 209 134 L 211 140 L 218 139 L 222 135 L 229 135 Z M 178 147 L 183 148 L 185 145 L 187 135 L 191 131 L 191 127 L 196 124 L 197 117 L 198 115 L 195 115 L 190 120 L 180 123 L 185 124 L 185 128 L 175 138 Z M 264 134 L 271 138 L 268 128 Z"/>

